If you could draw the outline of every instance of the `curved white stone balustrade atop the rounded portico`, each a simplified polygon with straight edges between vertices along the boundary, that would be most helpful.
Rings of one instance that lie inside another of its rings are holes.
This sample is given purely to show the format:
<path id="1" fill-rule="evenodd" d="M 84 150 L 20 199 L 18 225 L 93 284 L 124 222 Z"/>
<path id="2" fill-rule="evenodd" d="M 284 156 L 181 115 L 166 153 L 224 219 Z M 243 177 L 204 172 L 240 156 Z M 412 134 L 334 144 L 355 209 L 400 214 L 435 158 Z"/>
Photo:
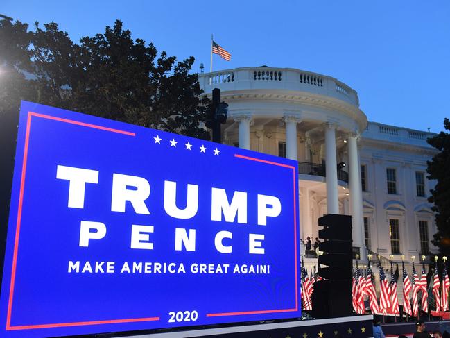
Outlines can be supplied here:
<path id="1" fill-rule="evenodd" d="M 336 78 L 291 68 L 245 67 L 199 74 L 206 93 L 214 87 L 222 91 L 288 90 L 331 96 L 359 107 L 358 94 Z"/>

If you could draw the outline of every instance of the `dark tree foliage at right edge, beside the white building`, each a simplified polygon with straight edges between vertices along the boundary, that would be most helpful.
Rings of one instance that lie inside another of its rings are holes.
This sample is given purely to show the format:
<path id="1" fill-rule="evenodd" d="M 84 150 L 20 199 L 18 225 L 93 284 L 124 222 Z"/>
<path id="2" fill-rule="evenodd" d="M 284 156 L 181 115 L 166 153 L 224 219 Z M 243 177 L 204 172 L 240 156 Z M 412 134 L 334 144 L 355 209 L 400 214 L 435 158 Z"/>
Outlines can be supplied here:
<path id="1" fill-rule="evenodd" d="M 449 119 L 444 119 L 444 128 L 450 130 Z M 427 140 L 431 146 L 440 151 L 429 162 L 426 169 L 428 178 L 436 180 L 431 190 L 429 202 L 433 203 L 435 222 L 438 233 L 435 233 L 433 244 L 439 247 L 444 255 L 450 255 L 450 133 L 440 132 Z"/>

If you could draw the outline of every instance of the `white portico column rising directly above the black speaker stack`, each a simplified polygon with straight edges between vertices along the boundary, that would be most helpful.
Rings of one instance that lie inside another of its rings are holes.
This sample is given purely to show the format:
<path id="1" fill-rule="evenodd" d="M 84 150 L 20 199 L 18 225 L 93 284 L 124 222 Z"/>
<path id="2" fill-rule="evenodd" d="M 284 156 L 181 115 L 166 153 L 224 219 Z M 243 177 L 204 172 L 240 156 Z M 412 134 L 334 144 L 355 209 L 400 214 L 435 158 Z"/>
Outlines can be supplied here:
<path id="1" fill-rule="evenodd" d="M 325 175 L 327 180 L 327 213 L 339 214 L 336 130 L 333 124 L 325 124 L 325 161 Z"/>

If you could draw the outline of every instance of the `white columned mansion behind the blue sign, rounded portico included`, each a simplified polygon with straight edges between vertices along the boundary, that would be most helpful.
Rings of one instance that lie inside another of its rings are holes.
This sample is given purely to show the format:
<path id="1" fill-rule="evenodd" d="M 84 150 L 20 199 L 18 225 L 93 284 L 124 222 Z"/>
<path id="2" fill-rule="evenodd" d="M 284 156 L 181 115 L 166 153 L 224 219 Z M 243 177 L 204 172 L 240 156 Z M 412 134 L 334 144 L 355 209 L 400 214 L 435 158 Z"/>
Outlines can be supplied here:
<path id="1" fill-rule="evenodd" d="M 223 143 L 299 162 L 302 238 L 318 236 L 323 214 L 351 214 L 363 259 L 367 249 L 397 262 L 437 250 L 426 179 L 433 134 L 367 122 L 355 90 L 309 71 L 245 67 L 199 81 L 229 104 Z"/>

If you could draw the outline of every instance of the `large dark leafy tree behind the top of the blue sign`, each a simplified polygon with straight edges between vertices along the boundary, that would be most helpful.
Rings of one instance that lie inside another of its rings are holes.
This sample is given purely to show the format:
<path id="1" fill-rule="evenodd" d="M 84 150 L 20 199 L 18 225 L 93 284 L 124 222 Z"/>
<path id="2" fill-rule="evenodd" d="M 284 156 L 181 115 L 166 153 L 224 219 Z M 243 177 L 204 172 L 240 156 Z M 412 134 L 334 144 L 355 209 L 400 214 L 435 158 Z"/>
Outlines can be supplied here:
<path id="1" fill-rule="evenodd" d="M 0 21 L 0 113 L 21 99 L 208 139 L 194 58 L 133 40 L 120 21 L 79 44 L 51 22 Z"/>

